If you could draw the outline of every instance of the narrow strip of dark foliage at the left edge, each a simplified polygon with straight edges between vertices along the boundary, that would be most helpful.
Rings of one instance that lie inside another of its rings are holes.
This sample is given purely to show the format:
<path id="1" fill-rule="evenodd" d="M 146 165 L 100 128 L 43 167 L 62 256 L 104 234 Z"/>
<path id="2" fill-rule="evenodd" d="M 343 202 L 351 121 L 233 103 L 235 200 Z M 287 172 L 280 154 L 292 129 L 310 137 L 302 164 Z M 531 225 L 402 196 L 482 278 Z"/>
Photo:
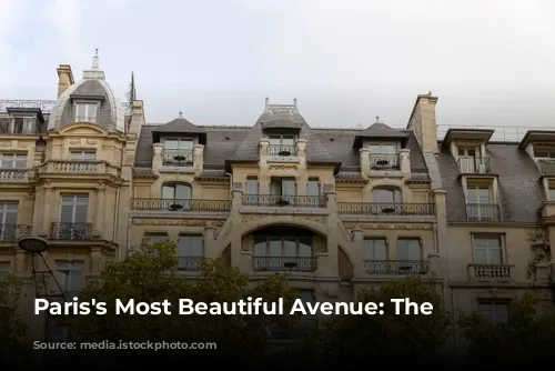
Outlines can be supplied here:
<path id="1" fill-rule="evenodd" d="M 27 324 L 19 313 L 21 283 L 10 274 L 0 279 L 0 360 L 13 359 L 23 351 L 20 343 Z"/>

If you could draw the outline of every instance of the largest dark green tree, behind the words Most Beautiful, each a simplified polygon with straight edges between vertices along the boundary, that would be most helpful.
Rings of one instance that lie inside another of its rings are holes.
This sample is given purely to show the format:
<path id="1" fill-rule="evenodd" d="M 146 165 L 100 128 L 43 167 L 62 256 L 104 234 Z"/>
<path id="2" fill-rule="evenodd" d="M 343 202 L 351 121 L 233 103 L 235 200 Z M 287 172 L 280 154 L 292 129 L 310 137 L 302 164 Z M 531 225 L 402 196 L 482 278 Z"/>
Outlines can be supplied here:
<path id="1" fill-rule="evenodd" d="M 263 349 L 268 328 L 291 319 L 274 315 L 199 315 L 179 314 L 179 300 L 194 302 L 238 302 L 246 298 L 264 301 L 284 298 L 292 302 L 299 292 L 286 283 L 286 277 L 272 275 L 252 287 L 249 275 L 229 267 L 221 259 L 206 259 L 198 280 L 188 280 L 175 274 L 176 245 L 171 241 L 142 244 L 125 260 L 109 265 L 97 284 L 88 285 L 81 301 L 104 301 L 104 315 L 75 315 L 69 318 L 80 339 L 94 342 L 95 347 L 108 345 L 108 352 L 121 352 L 117 345 L 133 341 L 138 344 L 164 343 L 154 349 L 143 347 L 141 353 L 173 350 L 183 354 L 189 351 L 204 353 L 218 351 L 234 355 L 249 355 Z M 115 300 L 154 302 L 169 300 L 172 315 L 115 315 Z M 176 345 L 179 344 L 179 349 Z M 135 349 L 129 349 L 137 353 Z M 98 353 L 98 351 L 97 351 Z"/>

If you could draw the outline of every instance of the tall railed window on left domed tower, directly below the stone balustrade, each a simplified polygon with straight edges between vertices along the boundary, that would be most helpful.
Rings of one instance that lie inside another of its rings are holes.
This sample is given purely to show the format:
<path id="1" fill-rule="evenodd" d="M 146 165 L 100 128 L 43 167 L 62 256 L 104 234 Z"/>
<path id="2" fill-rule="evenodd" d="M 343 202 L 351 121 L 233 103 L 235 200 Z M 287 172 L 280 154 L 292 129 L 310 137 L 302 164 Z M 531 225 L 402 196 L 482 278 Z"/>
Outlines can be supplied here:
<path id="1" fill-rule="evenodd" d="M 60 223 L 54 231 L 60 240 L 84 240 L 89 237 L 87 213 L 89 195 L 62 195 L 60 205 Z"/>

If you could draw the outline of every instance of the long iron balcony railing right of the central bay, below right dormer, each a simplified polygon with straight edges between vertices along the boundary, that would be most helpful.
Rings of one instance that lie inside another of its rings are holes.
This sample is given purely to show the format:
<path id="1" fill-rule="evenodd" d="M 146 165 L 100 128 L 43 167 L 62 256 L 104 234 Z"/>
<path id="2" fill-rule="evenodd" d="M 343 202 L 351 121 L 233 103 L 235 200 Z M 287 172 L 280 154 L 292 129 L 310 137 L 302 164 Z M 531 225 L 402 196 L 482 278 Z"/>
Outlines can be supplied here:
<path id="1" fill-rule="evenodd" d="M 347 215 L 434 215 L 433 203 L 337 202 L 337 212 Z"/>

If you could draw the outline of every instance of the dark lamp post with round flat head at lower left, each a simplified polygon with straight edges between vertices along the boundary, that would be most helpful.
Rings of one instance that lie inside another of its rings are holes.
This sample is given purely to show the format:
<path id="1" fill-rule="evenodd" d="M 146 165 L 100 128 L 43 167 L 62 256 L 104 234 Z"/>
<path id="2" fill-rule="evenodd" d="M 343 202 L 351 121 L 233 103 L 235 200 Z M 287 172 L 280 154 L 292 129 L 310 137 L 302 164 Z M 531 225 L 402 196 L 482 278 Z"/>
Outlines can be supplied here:
<path id="1" fill-rule="evenodd" d="M 42 254 L 43 252 L 48 251 L 50 248 L 50 244 L 48 243 L 48 240 L 42 238 L 42 237 L 24 237 L 18 241 L 18 245 L 21 250 L 29 252 L 31 254 L 31 267 L 32 267 L 32 275 L 33 275 L 33 281 L 34 281 L 34 294 L 36 298 L 39 299 L 41 297 L 46 298 L 49 300 L 49 298 L 52 297 L 58 297 L 61 298 L 64 302 L 69 301 L 68 300 L 68 294 L 65 290 L 63 290 L 62 285 L 58 281 L 58 278 L 56 277 L 54 272 L 50 268 L 50 264 L 48 263 L 47 259 Z M 34 263 L 36 257 L 39 255 L 42 259 L 42 262 L 44 263 L 46 270 L 37 270 L 37 265 Z M 40 287 L 39 287 L 39 279 L 37 275 L 40 274 L 42 279 L 42 287 L 44 289 L 44 294 L 40 294 Z M 49 294 L 48 288 L 47 288 L 47 282 L 44 274 L 49 274 L 52 277 L 57 288 L 59 289 L 59 294 Z M 44 362 L 48 361 L 48 349 L 49 349 L 49 340 L 50 340 L 50 315 L 49 312 L 44 314 L 44 353 L 43 353 L 43 359 Z"/>

